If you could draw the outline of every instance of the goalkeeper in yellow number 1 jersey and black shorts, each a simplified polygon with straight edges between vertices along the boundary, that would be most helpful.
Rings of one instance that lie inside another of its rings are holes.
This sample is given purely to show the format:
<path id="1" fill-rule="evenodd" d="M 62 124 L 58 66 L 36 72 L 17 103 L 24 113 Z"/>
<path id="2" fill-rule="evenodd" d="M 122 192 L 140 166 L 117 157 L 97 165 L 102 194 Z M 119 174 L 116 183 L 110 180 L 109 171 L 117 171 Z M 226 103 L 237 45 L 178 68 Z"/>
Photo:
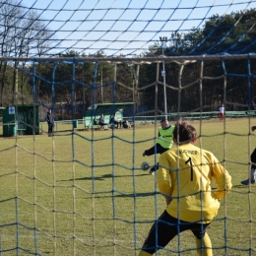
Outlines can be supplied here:
<path id="1" fill-rule="evenodd" d="M 158 186 L 166 209 L 152 226 L 139 256 L 153 255 L 174 236 L 191 230 L 199 255 L 213 255 L 206 228 L 217 216 L 219 199 L 231 189 L 231 177 L 219 160 L 196 143 L 196 128 L 181 121 L 173 131 L 177 147 L 160 155 Z M 212 191 L 212 179 L 217 189 Z"/>

